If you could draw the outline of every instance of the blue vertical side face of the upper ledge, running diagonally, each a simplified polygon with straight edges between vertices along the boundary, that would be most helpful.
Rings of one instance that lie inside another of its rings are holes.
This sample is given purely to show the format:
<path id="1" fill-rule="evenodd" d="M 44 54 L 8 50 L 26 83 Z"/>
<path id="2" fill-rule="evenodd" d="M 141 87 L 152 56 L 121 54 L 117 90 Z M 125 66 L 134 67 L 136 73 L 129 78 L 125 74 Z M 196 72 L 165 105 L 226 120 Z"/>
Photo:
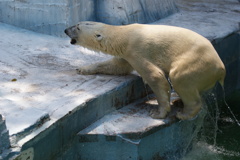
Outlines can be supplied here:
<path id="1" fill-rule="evenodd" d="M 73 143 L 79 130 L 86 128 L 116 108 L 146 96 L 147 92 L 143 85 L 142 80 L 137 78 L 126 82 L 120 88 L 87 101 L 49 126 L 38 136 L 26 141 L 21 150 L 33 147 L 34 159 L 54 159 L 60 154 L 59 149 L 65 151 L 65 148 Z"/>

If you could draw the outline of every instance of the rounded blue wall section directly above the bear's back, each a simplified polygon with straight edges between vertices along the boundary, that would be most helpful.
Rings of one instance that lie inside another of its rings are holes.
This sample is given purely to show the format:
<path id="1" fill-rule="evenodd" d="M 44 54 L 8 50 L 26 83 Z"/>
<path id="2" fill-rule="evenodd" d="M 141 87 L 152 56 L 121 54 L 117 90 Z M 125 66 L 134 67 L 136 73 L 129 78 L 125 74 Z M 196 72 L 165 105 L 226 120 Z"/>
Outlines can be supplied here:
<path id="1" fill-rule="evenodd" d="M 174 0 L 96 0 L 96 20 L 108 24 L 150 23 L 175 12 Z"/>

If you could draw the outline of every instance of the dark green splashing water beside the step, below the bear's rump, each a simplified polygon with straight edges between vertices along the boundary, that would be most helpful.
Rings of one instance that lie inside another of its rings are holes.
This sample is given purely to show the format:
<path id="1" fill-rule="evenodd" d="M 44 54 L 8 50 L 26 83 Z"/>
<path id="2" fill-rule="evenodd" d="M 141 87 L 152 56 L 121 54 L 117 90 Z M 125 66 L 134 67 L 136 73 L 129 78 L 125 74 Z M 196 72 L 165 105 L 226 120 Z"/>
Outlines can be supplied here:
<path id="1" fill-rule="evenodd" d="M 240 120 L 239 103 L 230 105 L 236 118 Z M 207 119 L 205 123 L 210 122 Z M 240 126 L 234 122 L 230 112 L 224 108 L 219 114 L 218 129 L 214 124 L 204 126 L 203 135 L 193 145 L 192 150 L 181 160 L 240 160 Z"/>

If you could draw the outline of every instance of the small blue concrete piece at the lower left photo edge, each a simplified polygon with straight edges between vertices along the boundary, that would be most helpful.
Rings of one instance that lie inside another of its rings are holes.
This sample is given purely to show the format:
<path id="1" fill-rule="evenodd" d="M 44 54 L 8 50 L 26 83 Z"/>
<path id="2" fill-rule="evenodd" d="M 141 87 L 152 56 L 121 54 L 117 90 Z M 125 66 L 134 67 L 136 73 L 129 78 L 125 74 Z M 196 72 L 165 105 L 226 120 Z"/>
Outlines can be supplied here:
<path id="1" fill-rule="evenodd" d="M 10 142 L 8 130 L 6 129 L 5 119 L 0 114 L 0 154 L 9 147 Z"/>

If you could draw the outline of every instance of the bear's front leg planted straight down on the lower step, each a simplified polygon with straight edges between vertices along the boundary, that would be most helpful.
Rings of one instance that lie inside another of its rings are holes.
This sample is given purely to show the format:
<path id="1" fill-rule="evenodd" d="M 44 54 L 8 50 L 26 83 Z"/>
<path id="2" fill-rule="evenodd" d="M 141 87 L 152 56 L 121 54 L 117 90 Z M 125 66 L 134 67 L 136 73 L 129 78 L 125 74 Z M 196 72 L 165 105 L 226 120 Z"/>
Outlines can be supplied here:
<path id="1" fill-rule="evenodd" d="M 129 57 L 129 63 L 142 76 L 157 97 L 158 108 L 150 113 L 152 118 L 166 118 L 170 112 L 170 84 L 165 73 L 143 57 Z"/>

